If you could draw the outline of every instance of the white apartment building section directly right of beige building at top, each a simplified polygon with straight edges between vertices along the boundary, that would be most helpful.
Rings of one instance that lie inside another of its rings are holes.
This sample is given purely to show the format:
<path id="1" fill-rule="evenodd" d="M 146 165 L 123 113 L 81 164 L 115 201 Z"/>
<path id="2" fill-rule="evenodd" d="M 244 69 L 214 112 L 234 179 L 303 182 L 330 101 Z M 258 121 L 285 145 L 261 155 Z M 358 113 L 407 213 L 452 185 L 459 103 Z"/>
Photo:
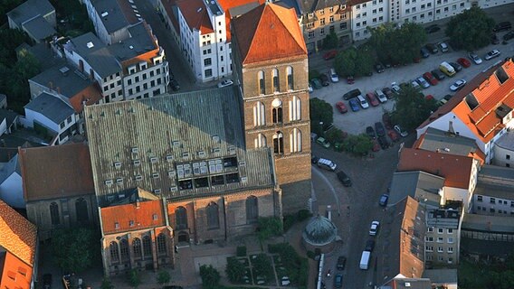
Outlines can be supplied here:
<path id="1" fill-rule="evenodd" d="M 389 4 L 385 0 L 352 0 L 351 7 L 351 32 L 353 41 L 361 41 L 369 38 L 369 28 L 375 28 L 389 20 Z"/>

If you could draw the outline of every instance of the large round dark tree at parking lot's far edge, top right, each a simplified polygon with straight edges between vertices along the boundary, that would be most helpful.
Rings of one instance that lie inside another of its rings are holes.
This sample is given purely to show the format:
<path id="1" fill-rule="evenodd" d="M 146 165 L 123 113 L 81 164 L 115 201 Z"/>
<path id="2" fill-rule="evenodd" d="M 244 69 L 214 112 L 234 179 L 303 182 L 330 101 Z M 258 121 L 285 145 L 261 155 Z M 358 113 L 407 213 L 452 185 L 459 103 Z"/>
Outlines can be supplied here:
<path id="1" fill-rule="evenodd" d="M 494 19 L 480 7 L 472 6 L 453 16 L 444 33 L 457 49 L 474 51 L 489 45 L 494 24 Z"/>

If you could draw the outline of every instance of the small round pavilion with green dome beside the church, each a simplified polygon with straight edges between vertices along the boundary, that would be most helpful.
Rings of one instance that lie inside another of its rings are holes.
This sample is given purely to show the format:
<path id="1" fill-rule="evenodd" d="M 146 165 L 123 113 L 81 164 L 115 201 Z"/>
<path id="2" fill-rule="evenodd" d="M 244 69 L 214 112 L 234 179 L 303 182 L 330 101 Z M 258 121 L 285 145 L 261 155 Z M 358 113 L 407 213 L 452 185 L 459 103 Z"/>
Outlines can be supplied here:
<path id="1" fill-rule="evenodd" d="M 323 216 L 315 216 L 303 230 L 303 245 L 309 251 L 319 249 L 321 253 L 330 252 L 338 237 L 338 228 L 332 221 Z"/>

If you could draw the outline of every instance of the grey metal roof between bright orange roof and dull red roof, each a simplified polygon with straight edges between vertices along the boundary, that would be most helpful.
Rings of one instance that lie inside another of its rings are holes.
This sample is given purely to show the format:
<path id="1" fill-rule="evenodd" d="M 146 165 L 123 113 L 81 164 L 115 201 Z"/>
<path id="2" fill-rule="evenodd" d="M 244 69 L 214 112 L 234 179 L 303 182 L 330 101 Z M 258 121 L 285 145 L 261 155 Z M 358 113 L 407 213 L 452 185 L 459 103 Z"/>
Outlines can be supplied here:
<path id="1" fill-rule="evenodd" d="M 477 144 L 472 138 L 462 135 L 450 135 L 442 130 L 428 127 L 419 148 L 442 154 L 467 156 L 477 151 Z"/>

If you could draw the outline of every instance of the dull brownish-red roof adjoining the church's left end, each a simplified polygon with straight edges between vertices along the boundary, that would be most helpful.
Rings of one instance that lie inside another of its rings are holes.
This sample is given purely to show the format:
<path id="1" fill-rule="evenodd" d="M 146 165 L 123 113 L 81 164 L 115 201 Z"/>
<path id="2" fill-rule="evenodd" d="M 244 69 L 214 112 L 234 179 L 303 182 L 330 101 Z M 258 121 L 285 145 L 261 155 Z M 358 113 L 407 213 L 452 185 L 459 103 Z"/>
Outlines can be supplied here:
<path id="1" fill-rule="evenodd" d="M 19 155 L 25 201 L 94 193 L 87 144 L 20 148 Z"/>

